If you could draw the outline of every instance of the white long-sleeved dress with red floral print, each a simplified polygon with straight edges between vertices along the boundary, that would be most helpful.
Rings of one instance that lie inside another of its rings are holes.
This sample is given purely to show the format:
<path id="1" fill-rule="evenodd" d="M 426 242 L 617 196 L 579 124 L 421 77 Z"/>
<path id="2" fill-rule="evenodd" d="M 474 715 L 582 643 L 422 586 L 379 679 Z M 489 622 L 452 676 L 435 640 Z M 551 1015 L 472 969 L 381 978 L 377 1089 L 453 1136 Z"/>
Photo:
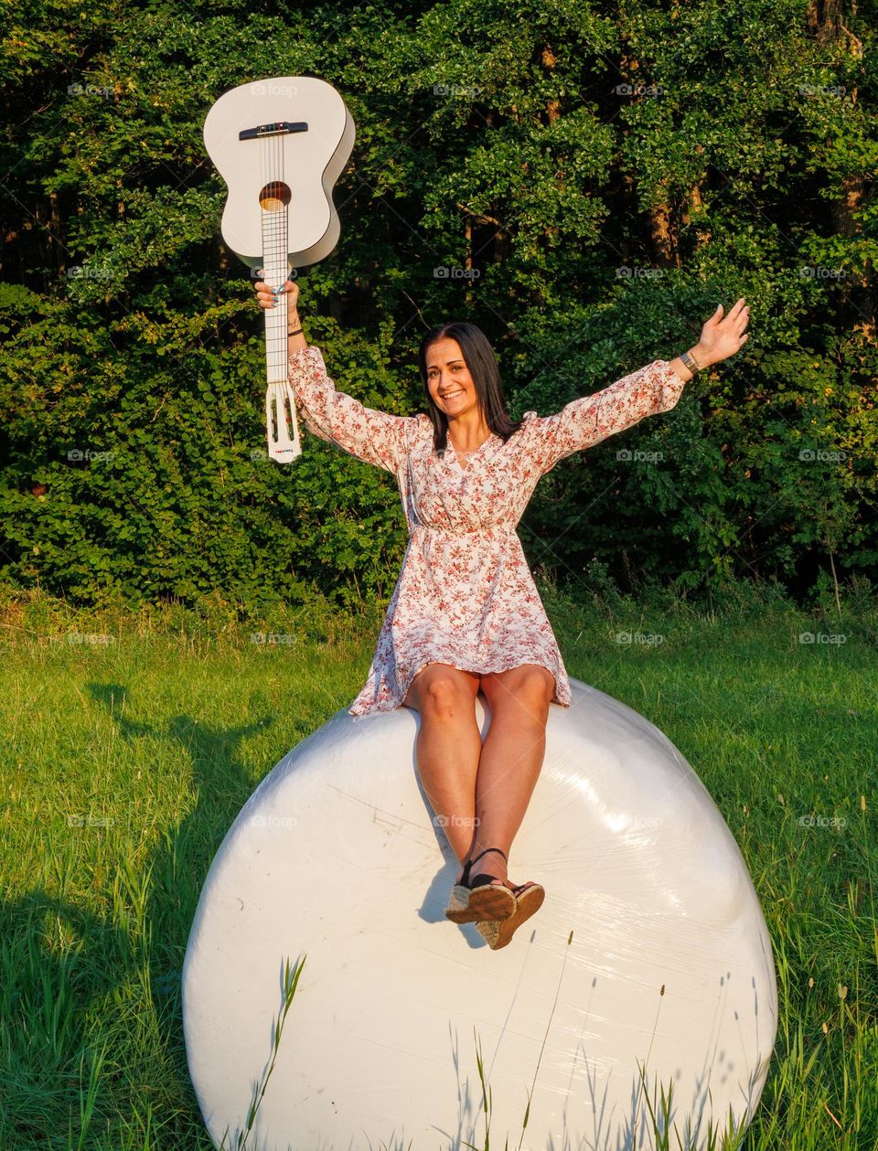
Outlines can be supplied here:
<path id="1" fill-rule="evenodd" d="M 685 381 L 654 360 L 553 416 L 526 412 L 504 443 L 491 434 L 464 466 L 450 441 L 440 456 L 426 414 L 392 416 L 336 391 L 313 344 L 290 356 L 290 386 L 306 427 L 397 480 L 409 544 L 368 679 L 348 709 L 392 711 L 428 663 L 474 673 L 535 663 L 570 707 L 567 672 L 516 526 L 541 475 L 559 459 L 670 411 Z"/>

